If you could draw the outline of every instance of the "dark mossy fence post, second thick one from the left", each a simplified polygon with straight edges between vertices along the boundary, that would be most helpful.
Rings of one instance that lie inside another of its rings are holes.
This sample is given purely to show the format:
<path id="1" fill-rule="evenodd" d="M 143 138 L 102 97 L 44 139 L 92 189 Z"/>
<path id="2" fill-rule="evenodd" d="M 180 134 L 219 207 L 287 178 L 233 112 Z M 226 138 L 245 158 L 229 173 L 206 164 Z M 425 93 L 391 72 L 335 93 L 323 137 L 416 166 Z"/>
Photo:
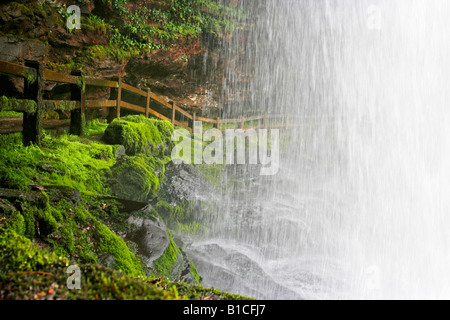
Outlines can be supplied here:
<path id="1" fill-rule="evenodd" d="M 83 79 L 83 74 L 81 71 L 72 71 L 71 75 L 78 76 L 78 79 Z M 81 80 L 83 81 L 83 80 Z M 85 84 L 71 84 L 70 85 L 70 100 L 78 101 L 80 103 L 80 108 L 76 108 L 70 112 L 70 134 L 83 136 L 84 135 L 84 90 Z"/>

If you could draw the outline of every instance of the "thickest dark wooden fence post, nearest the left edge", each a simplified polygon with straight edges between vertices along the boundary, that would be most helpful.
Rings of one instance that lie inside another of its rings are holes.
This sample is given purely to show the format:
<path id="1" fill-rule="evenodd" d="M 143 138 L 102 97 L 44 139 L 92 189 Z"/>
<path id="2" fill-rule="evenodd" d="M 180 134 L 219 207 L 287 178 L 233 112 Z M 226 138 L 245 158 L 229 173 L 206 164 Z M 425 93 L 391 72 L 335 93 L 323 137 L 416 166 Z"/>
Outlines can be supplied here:
<path id="1" fill-rule="evenodd" d="M 36 79 L 29 81 L 25 78 L 24 98 L 33 100 L 37 104 L 35 113 L 23 114 L 23 143 L 26 146 L 31 144 L 41 145 L 42 142 L 42 119 L 43 119 L 43 82 L 44 67 L 42 63 L 27 61 L 25 66 L 36 69 Z"/>

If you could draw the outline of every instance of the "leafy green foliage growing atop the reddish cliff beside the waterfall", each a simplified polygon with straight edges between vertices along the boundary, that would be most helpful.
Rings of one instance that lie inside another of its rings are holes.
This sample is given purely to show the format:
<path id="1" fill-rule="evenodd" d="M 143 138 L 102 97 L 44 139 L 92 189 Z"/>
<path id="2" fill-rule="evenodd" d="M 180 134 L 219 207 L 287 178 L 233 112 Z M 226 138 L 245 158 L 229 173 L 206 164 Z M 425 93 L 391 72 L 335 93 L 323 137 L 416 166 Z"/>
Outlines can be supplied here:
<path id="1" fill-rule="evenodd" d="M 161 49 L 183 37 L 232 30 L 242 14 L 237 6 L 224 6 L 216 0 L 166 0 L 165 6 L 139 6 L 128 9 L 127 0 L 108 1 L 123 23 L 113 29 L 110 42 L 124 49 Z M 161 9 L 165 8 L 165 9 Z"/>

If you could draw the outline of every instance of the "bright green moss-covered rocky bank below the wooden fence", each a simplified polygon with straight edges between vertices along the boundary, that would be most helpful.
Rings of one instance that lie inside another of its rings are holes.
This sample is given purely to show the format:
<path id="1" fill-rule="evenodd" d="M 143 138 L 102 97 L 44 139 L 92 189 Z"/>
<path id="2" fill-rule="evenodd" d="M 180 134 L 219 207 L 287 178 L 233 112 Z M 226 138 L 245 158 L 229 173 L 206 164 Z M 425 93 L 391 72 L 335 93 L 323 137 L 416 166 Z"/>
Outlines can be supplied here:
<path id="1" fill-rule="evenodd" d="M 167 146 L 173 128 L 152 122 L 159 135 L 152 134 L 153 143 Z M 144 150 L 117 159 L 120 146 L 72 136 L 47 136 L 42 147 L 24 147 L 19 135 L 0 136 L 0 147 L 0 184 L 8 188 L 0 189 L 0 298 L 179 299 L 168 281 L 200 283 L 184 245 L 166 226 L 161 231 L 167 241 L 149 248 L 158 251 L 150 264 L 139 235 L 126 237 L 130 216 L 161 219 L 158 212 L 172 219 L 175 232 L 187 232 L 193 222 L 190 204 L 160 201 L 150 212 L 127 211 L 121 209 L 127 201 L 113 194 L 134 200 L 128 201 L 133 207 L 159 197 L 168 161 L 163 153 Z M 64 287 L 69 263 L 82 266 L 80 292 Z M 140 280 L 144 277 L 164 281 L 154 286 Z M 54 294 L 41 296 L 43 287 Z"/>

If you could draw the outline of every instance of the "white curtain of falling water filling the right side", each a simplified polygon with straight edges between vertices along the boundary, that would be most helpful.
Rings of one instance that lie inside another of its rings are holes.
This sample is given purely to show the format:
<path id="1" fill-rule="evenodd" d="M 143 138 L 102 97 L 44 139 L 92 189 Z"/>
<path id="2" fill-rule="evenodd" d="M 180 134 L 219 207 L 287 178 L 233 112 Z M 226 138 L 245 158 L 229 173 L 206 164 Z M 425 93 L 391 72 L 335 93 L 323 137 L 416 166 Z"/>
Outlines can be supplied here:
<path id="1" fill-rule="evenodd" d="M 283 136 L 276 176 L 227 168 L 211 232 L 190 249 L 204 284 L 264 299 L 450 298 L 450 2 L 243 6 L 252 27 L 225 48 L 227 112 L 302 126 Z"/>

